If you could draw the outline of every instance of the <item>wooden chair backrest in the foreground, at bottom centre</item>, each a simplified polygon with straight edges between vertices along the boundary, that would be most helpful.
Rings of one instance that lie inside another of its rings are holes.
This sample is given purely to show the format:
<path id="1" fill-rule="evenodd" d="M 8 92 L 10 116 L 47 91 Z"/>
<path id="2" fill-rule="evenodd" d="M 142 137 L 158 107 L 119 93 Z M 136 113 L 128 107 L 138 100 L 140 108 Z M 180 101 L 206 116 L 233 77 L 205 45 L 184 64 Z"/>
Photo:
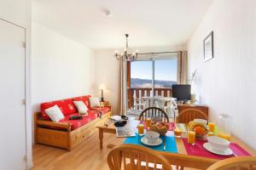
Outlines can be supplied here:
<path id="1" fill-rule="evenodd" d="M 108 153 L 110 170 L 142 170 L 151 166 L 157 169 L 159 165 L 163 170 L 172 170 L 169 161 L 157 151 L 135 144 L 121 144 Z"/>

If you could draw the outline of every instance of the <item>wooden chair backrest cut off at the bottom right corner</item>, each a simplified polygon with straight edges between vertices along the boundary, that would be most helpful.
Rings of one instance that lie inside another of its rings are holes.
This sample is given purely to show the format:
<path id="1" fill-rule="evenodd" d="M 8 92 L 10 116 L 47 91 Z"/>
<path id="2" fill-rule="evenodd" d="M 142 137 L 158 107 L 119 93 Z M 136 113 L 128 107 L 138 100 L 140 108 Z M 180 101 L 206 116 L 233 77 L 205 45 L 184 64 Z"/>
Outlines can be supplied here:
<path id="1" fill-rule="evenodd" d="M 223 161 L 218 161 L 217 163 L 214 163 L 211 167 L 207 168 L 207 170 L 230 170 L 230 169 L 236 169 L 236 170 L 256 169 L 256 156 L 232 157 L 229 159 L 225 159 Z"/>

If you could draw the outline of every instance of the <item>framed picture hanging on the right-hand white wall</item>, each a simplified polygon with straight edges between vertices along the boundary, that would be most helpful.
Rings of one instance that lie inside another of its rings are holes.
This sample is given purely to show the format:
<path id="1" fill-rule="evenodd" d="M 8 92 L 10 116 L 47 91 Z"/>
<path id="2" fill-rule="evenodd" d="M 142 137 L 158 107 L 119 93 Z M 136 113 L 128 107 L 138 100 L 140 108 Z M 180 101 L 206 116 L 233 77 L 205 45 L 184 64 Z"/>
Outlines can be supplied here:
<path id="1" fill-rule="evenodd" d="M 213 59 L 213 31 L 204 39 L 204 60 Z"/>

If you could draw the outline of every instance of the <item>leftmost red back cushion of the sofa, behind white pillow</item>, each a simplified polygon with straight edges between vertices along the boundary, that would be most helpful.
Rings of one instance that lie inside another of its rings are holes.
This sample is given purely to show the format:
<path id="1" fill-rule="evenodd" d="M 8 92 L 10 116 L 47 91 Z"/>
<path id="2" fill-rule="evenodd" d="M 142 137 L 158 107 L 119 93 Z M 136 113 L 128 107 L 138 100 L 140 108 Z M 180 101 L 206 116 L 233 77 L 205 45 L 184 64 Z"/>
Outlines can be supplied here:
<path id="1" fill-rule="evenodd" d="M 76 106 L 73 104 L 73 99 L 61 99 L 45 102 L 41 104 L 41 116 L 45 120 L 50 120 L 49 116 L 45 113 L 45 110 L 54 105 L 57 105 L 60 108 L 64 116 L 78 112 Z"/>

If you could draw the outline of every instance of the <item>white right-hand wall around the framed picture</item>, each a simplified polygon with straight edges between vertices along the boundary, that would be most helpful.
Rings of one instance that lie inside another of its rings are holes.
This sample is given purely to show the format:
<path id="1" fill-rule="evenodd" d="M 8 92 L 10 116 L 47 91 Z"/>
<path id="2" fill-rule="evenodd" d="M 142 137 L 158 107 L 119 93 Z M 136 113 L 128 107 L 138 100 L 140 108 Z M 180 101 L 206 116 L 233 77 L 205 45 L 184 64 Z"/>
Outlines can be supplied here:
<path id="1" fill-rule="evenodd" d="M 188 43 L 189 74 L 199 69 L 197 94 L 234 117 L 232 133 L 256 149 L 256 1 L 215 0 Z M 213 31 L 214 59 L 203 61 L 203 39 Z"/>

